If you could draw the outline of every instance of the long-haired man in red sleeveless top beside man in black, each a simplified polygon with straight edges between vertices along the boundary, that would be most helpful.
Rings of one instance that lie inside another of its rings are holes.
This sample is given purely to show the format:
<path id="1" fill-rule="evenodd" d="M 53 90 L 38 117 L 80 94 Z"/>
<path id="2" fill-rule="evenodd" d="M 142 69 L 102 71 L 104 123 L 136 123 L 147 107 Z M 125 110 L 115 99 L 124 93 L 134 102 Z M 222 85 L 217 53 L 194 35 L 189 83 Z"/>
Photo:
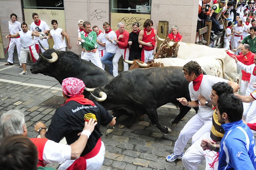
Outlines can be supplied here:
<path id="1" fill-rule="evenodd" d="M 143 31 L 139 33 L 139 44 L 141 44 L 141 61 L 144 63 L 153 60 L 154 55 L 156 54 L 157 48 L 157 39 L 156 34 L 157 31 L 152 28 L 153 21 L 151 19 L 147 19 L 143 24 Z"/>

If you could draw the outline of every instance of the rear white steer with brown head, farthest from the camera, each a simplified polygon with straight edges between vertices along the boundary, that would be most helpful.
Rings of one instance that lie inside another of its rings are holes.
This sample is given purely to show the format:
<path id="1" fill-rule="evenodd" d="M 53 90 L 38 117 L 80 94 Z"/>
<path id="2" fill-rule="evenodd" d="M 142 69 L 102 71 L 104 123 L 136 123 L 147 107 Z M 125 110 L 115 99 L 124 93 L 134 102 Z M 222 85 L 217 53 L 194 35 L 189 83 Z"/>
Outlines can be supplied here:
<path id="1" fill-rule="evenodd" d="M 172 42 L 169 37 L 161 39 L 163 41 L 160 45 L 154 59 L 158 58 L 181 58 L 181 59 L 195 59 L 199 57 L 214 55 L 223 59 L 225 66 L 223 67 L 226 73 L 225 79 L 229 81 L 238 82 L 239 75 L 236 73 L 236 62 L 225 52 L 224 48 L 211 48 L 209 46 L 202 46 L 197 44 L 190 44 L 184 42 Z"/>

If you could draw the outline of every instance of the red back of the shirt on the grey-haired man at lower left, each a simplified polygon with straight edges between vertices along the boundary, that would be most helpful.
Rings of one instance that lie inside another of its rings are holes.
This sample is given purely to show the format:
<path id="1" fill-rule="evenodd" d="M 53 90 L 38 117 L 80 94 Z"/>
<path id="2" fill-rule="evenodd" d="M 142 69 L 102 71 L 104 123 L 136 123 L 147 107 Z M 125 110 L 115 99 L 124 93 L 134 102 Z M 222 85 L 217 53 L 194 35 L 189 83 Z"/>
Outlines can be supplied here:
<path id="1" fill-rule="evenodd" d="M 34 145 L 36 145 L 36 149 L 38 152 L 37 167 L 38 166 L 44 167 L 45 165 L 44 165 L 44 160 L 43 160 L 43 152 L 44 152 L 45 143 L 48 141 L 48 139 L 46 139 L 46 138 L 31 138 L 30 140 L 34 143 Z"/>

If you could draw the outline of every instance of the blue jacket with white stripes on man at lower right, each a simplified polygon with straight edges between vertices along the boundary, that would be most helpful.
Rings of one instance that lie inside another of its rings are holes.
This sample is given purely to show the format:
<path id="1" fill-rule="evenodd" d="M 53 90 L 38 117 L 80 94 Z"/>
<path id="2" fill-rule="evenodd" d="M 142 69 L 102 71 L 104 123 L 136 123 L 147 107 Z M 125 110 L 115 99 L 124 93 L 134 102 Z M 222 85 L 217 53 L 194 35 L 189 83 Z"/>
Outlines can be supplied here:
<path id="1" fill-rule="evenodd" d="M 218 170 L 255 170 L 256 147 L 250 128 L 242 120 L 222 124 Z"/>

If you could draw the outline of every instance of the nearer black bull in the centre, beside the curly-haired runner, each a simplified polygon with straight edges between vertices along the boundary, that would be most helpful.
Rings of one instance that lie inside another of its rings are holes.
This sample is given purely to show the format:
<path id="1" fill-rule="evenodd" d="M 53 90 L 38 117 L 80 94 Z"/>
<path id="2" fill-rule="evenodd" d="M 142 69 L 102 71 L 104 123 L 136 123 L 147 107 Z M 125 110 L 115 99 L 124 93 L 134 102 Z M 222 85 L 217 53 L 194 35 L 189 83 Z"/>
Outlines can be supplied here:
<path id="1" fill-rule="evenodd" d="M 190 100 L 188 81 L 184 78 L 182 67 L 153 67 L 125 71 L 109 84 L 96 88 L 92 94 L 99 97 L 100 91 L 107 94 L 107 99 L 99 102 L 107 110 L 126 110 L 130 114 L 127 121 L 133 121 L 138 114 L 146 113 L 152 124 L 164 133 L 168 133 L 168 128 L 162 127 L 158 122 L 158 107 L 173 103 L 180 108 L 180 114 L 172 123 L 178 123 L 191 109 L 176 99 L 185 97 Z M 95 100 L 92 95 L 89 99 Z"/>

